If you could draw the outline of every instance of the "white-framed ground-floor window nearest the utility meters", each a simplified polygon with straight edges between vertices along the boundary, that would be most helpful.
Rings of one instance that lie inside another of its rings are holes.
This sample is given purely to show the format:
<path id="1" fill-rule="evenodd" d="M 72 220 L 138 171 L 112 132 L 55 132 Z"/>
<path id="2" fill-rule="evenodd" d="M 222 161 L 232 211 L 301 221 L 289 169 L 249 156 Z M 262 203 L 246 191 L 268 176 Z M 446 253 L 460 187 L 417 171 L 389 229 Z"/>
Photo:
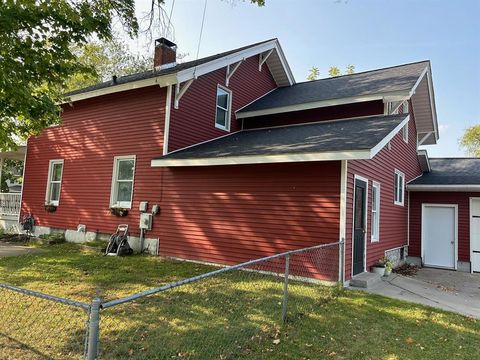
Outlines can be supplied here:
<path id="1" fill-rule="evenodd" d="M 132 208 L 134 176 L 135 155 L 116 156 L 113 163 L 111 207 Z"/>

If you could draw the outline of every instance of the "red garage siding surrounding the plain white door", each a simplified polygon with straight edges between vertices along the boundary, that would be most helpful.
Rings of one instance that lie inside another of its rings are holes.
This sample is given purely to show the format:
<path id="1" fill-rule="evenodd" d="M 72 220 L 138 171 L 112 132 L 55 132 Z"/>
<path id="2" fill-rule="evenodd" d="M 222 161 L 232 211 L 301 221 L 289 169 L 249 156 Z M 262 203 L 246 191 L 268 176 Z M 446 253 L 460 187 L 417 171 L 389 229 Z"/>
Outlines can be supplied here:
<path id="1" fill-rule="evenodd" d="M 408 255 L 421 257 L 422 204 L 457 204 L 458 260 L 470 261 L 470 197 L 480 197 L 480 193 L 411 192 Z"/>

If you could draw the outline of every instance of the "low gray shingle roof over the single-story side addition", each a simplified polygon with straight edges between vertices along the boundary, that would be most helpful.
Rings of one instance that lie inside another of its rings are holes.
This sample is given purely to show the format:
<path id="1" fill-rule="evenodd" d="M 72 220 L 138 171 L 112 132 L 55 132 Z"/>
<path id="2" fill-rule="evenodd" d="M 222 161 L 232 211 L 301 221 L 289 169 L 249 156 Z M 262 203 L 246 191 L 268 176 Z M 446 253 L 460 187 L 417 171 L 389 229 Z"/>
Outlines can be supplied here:
<path id="1" fill-rule="evenodd" d="M 158 159 L 182 160 L 370 150 L 393 131 L 405 116 L 380 115 L 243 130 Z"/>

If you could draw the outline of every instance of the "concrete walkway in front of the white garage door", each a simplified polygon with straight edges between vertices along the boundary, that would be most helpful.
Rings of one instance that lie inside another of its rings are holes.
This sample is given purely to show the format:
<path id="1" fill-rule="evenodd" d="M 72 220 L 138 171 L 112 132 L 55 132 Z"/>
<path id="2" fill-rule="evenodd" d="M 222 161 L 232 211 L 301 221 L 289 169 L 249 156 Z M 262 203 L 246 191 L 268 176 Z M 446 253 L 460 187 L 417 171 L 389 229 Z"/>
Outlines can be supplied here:
<path id="1" fill-rule="evenodd" d="M 480 319 L 480 274 L 423 268 L 414 277 L 392 274 L 364 290 Z"/>

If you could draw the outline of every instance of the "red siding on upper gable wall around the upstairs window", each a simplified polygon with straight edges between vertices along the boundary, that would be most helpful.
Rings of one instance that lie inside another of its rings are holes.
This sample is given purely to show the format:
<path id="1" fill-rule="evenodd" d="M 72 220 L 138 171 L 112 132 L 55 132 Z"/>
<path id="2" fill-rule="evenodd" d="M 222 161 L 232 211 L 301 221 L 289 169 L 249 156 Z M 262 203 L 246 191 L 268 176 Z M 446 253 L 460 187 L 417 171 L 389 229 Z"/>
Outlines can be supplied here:
<path id="1" fill-rule="evenodd" d="M 225 75 L 226 68 L 222 68 L 199 77 L 181 98 L 179 108 L 172 106 L 169 151 L 229 134 L 215 128 L 217 85 L 225 85 Z M 275 87 L 267 66 L 258 71 L 258 56 L 246 59 L 233 74 L 228 86 L 232 90 L 230 132 L 241 129 L 234 112 Z"/>

